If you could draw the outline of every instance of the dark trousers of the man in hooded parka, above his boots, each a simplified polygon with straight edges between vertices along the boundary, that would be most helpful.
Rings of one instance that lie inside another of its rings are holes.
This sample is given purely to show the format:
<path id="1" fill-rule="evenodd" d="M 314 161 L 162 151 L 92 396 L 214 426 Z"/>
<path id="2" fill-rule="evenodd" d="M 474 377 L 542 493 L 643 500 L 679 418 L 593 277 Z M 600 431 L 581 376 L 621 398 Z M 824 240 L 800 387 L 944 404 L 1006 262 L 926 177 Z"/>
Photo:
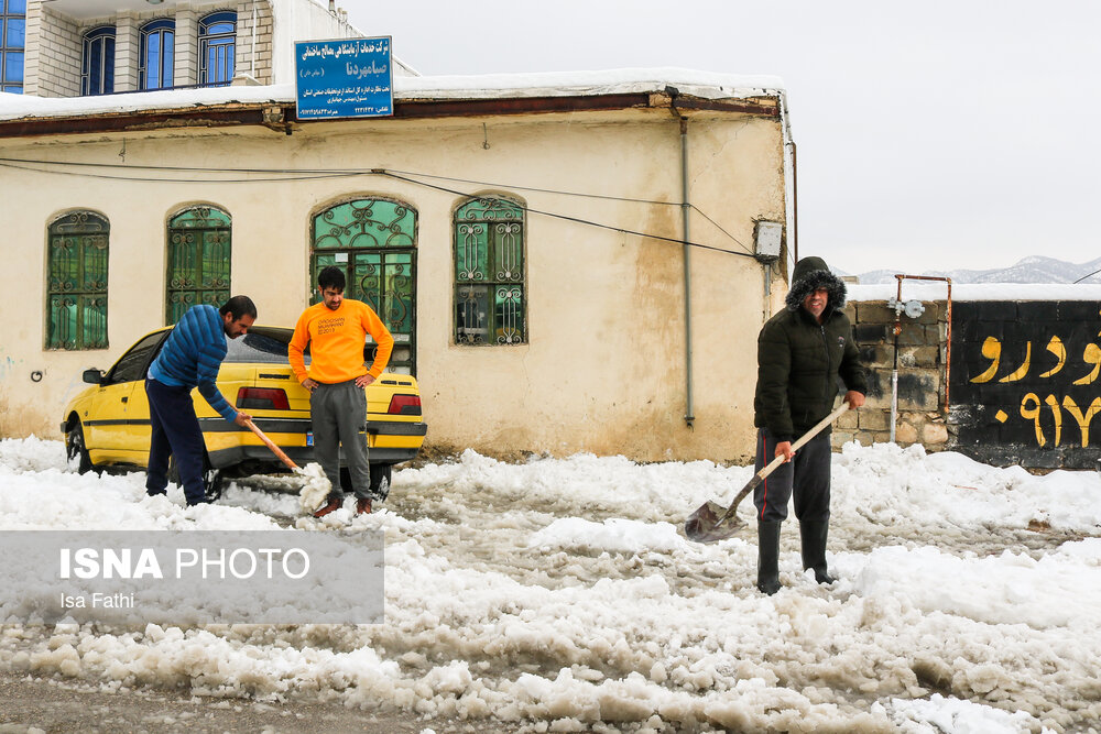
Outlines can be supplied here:
<path id="1" fill-rule="evenodd" d="M 776 439 L 767 428 L 757 430 L 756 471 L 776 457 Z M 800 521 L 829 519 L 829 471 L 832 451 L 829 434 L 819 434 L 781 464 L 756 489 L 753 504 L 759 521 L 787 519 L 787 503 L 795 495 L 795 516 Z"/>

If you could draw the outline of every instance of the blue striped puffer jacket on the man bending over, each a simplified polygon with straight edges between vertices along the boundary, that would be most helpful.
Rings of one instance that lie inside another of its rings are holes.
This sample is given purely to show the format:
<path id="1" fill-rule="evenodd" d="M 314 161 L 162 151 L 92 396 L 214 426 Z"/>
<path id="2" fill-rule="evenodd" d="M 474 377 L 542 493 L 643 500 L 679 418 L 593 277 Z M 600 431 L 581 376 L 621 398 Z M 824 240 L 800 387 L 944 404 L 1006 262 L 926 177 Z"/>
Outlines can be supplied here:
<path id="1" fill-rule="evenodd" d="M 226 359 L 226 326 L 214 306 L 192 306 L 179 319 L 161 353 L 149 368 L 149 375 L 176 387 L 198 387 L 215 410 L 233 423 L 237 410 L 216 384 L 218 369 Z"/>

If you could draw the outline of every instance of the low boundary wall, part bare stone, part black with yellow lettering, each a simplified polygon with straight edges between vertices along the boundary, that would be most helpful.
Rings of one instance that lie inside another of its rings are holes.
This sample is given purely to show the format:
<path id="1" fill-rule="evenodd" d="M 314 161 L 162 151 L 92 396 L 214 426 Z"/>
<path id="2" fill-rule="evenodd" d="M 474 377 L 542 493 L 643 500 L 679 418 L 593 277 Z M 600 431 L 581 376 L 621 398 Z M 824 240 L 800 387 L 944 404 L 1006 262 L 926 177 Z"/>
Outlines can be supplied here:
<path id="1" fill-rule="evenodd" d="M 1101 465 L 1101 317 L 1097 300 L 957 300 L 950 370 L 947 302 L 902 317 L 895 440 L 1032 469 Z M 890 440 L 895 313 L 883 300 L 847 307 L 871 380 L 835 447 Z M 945 384 L 949 385 L 947 403 Z"/>

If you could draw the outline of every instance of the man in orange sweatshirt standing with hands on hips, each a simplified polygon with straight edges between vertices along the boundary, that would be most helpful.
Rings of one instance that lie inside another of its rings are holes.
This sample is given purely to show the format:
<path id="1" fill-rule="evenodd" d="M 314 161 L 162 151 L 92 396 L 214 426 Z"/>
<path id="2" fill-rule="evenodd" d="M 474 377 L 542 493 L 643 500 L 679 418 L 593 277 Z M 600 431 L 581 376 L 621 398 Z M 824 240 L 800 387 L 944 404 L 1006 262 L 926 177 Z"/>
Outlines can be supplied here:
<path id="1" fill-rule="evenodd" d="M 374 310 L 360 300 L 344 297 L 345 274 L 328 266 L 317 276 L 321 303 L 304 310 L 294 327 L 287 350 L 291 366 L 302 386 L 309 391 L 309 413 L 314 429 L 314 456 L 333 483 L 328 501 L 314 517 L 324 517 L 344 505 L 340 487 L 340 447 L 356 493 L 356 514 L 371 512 L 371 464 L 367 449 L 367 393 L 390 361 L 394 338 Z M 378 349 L 370 369 L 364 359 L 367 335 Z M 309 344 L 306 370 L 303 352 Z"/>

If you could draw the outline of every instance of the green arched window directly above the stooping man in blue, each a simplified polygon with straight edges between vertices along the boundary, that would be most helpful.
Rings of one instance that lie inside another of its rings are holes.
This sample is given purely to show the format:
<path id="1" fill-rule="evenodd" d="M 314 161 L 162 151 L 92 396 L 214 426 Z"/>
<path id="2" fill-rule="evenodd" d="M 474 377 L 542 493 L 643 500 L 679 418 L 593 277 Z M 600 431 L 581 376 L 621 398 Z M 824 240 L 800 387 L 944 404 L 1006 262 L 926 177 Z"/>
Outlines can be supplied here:
<path id="1" fill-rule="evenodd" d="M 168 220 L 165 326 L 196 304 L 229 300 L 232 218 L 215 207 L 192 207 Z"/>

